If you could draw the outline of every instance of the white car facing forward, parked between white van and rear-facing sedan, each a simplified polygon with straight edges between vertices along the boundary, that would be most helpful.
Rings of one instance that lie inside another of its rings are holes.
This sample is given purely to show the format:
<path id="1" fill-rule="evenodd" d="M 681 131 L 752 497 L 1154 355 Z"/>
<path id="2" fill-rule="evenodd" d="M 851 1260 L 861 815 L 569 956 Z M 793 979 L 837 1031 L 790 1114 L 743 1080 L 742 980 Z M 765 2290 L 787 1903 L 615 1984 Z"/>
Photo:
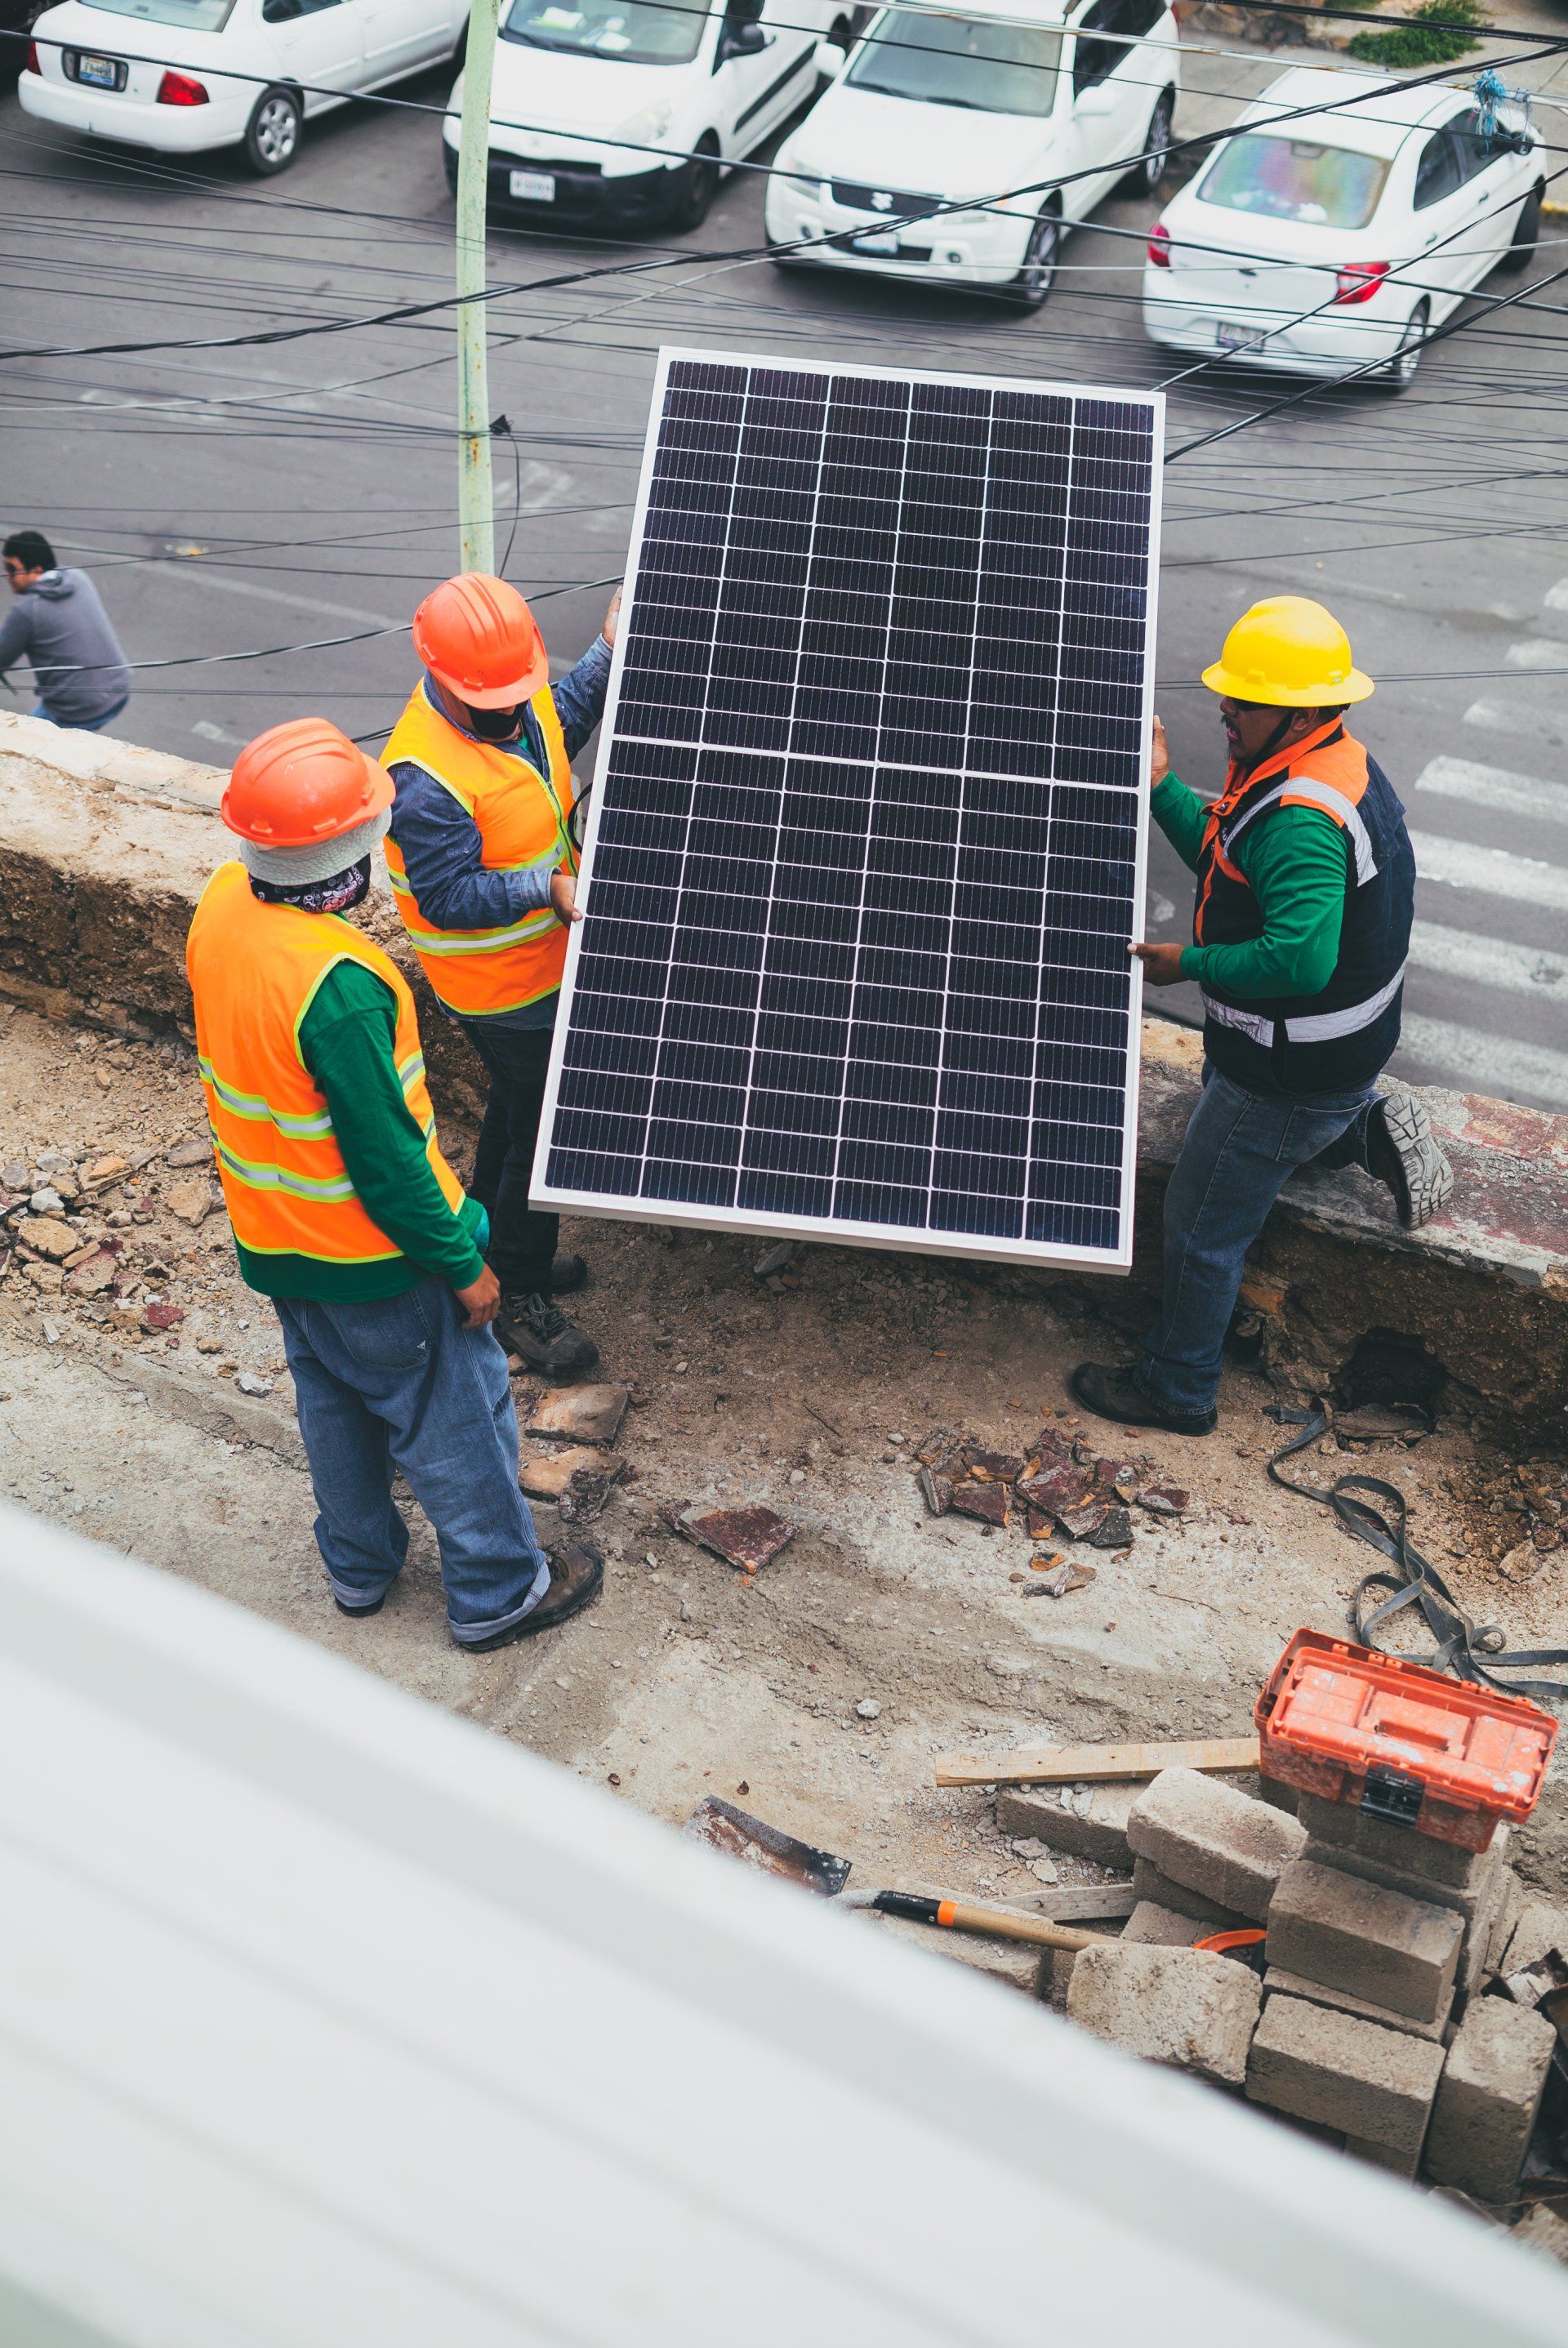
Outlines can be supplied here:
<path id="1" fill-rule="evenodd" d="M 1073 221 L 1124 181 L 1155 190 L 1178 82 L 1162 0 L 880 9 L 779 148 L 768 242 L 782 265 L 1000 289 L 1033 308 Z"/>

